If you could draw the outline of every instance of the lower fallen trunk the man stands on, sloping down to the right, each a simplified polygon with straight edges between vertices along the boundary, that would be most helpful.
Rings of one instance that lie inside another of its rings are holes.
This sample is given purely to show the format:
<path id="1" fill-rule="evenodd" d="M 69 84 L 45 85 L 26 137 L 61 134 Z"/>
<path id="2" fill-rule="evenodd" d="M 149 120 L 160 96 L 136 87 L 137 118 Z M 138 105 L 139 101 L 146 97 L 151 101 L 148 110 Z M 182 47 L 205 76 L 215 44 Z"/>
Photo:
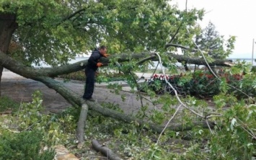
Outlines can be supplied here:
<path id="1" fill-rule="evenodd" d="M 18 63 L 17 61 L 14 61 L 12 58 L 2 53 L 1 51 L 0 51 L 0 63 L 3 64 L 2 66 L 9 69 L 10 71 L 13 71 L 16 74 L 24 76 L 28 79 L 34 79 L 35 81 L 40 81 L 46 86 L 48 86 L 50 89 L 54 89 L 56 92 L 61 94 L 61 96 L 65 98 L 74 107 L 81 106 L 84 103 L 84 99 L 81 99 L 81 96 L 72 92 L 70 89 L 67 89 L 65 86 L 63 86 L 61 82 L 58 82 L 48 77 L 48 74 L 46 73 L 49 73 L 48 71 L 52 72 L 53 69 L 42 70 L 42 69 L 35 69 L 35 68 L 24 66 Z M 40 72 L 40 71 L 43 71 L 43 72 Z M 145 121 L 138 120 L 138 118 L 131 117 L 131 115 L 125 115 L 115 110 L 110 110 L 108 108 L 102 107 L 100 104 L 96 102 L 87 101 L 86 103 L 89 106 L 90 110 L 93 110 L 102 115 L 105 115 L 106 117 L 112 117 L 116 120 L 121 120 L 125 123 L 137 123 L 138 125 L 144 128 L 146 128 L 146 126 L 149 126 L 149 128 L 147 129 L 154 130 L 157 133 L 161 133 L 162 129 L 164 128 L 164 126 L 159 127 L 154 123 L 148 123 L 148 120 L 145 120 Z M 191 130 L 195 125 L 200 125 L 203 128 L 208 128 L 208 125 L 206 122 L 194 122 L 193 125 L 169 125 L 167 128 L 169 130 L 175 130 L 175 131 Z M 214 124 L 211 123 L 211 127 L 213 127 L 213 125 Z"/>

